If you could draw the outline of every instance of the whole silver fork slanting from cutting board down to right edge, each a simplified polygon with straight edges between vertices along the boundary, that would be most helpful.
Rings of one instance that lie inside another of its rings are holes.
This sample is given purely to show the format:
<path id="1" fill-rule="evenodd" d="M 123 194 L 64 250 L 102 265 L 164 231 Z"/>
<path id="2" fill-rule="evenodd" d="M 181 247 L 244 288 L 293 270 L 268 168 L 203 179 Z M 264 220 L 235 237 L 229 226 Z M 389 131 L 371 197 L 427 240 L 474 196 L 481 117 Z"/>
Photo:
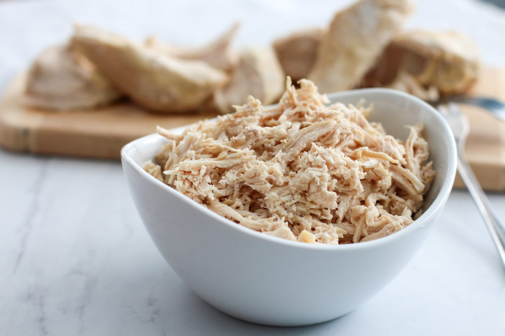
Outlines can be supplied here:
<path id="1" fill-rule="evenodd" d="M 465 156 L 465 142 L 470 131 L 468 119 L 455 103 L 438 105 L 437 109 L 443 115 L 454 134 L 458 147 L 458 172 L 468 191 L 470 191 L 470 195 L 474 199 L 482 219 L 486 223 L 487 229 L 501 257 L 501 262 L 505 267 L 505 229 L 503 224 L 500 223 L 496 212 L 477 181 Z"/>

